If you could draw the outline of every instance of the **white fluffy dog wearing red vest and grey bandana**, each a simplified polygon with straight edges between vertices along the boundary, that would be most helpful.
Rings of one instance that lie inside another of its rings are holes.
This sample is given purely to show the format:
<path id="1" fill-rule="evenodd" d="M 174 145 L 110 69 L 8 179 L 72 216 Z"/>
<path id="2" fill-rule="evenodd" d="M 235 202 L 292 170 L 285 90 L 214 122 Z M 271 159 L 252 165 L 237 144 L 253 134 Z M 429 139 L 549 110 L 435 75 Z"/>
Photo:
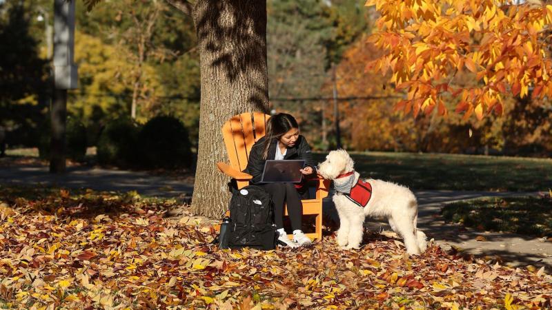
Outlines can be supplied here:
<path id="1" fill-rule="evenodd" d="M 426 251 L 426 234 L 416 229 L 418 208 L 411 190 L 383 180 L 359 180 L 353 165 L 351 156 L 344 149 L 338 149 L 330 152 L 317 169 L 322 177 L 333 180 L 333 202 L 340 222 L 339 246 L 358 249 L 366 216 L 383 216 L 388 218 L 391 229 L 404 239 L 408 254 Z"/>

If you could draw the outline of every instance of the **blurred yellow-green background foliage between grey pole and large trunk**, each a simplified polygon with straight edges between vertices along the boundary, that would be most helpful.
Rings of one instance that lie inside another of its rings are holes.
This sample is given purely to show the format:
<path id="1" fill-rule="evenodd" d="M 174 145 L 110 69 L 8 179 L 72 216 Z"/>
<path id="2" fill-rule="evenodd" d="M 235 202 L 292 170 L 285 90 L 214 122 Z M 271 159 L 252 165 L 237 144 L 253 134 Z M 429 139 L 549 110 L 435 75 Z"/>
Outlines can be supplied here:
<path id="1" fill-rule="evenodd" d="M 69 112 L 87 125 L 90 145 L 110 119 L 130 116 L 136 70 L 137 45 L 124 39 L 132 32 L 132 12 L 146 12 L 148 1 L 105 2 L 87 12 L 77 2 L 76 57 L 79 86 L 72 92 Z M 159 4 L 159 3 L 158 3 Z M 183 22 L 184 19 L 184 22 Z M 145 123 L 164 114 L 184 121 L 189 140 L 197 148 L 199 124 L 199 54 L 191 19 L 164 8 L 152 29 L 149 56 L 141 65 L 137 121 Z M 149 94 L 149 95 L 148 95 Z"/>

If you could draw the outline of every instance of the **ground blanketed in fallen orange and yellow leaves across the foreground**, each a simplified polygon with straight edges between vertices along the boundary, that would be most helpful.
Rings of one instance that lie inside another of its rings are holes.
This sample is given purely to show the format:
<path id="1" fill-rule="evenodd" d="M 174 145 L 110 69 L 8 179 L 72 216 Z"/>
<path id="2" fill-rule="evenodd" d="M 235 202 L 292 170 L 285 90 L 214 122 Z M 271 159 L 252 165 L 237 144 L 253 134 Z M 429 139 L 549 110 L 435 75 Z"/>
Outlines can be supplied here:
<path id="1" fill-rule="evenodd" d="M 0 188 L 0 308 L 541 309 L 544 269 L 466 261 L 432 245 L 408 258 L 367 234 L 302 249 L 219 250 L 212 221 L 134 194 Z"/>

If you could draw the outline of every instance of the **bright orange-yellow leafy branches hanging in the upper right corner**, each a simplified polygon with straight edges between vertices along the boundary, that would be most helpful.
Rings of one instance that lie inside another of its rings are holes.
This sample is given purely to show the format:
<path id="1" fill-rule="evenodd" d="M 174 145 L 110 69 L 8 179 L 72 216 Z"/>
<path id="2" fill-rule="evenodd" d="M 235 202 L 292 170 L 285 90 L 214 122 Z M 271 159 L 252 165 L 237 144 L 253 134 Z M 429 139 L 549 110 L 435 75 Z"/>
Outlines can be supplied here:
<path id="1" fill-rule="evenodd" d="M 478 119 L 500 115 L 506 95 L 552 96 L 548 50 L 552 6 L 511 0 L 368 0 L 381 17 L 371 41 L 384 54 L 371 66 L 407 98 L 397 108 L 416 116 L 435 107 L 444 115 L 445 96 L 459 96 L 455 110 Z M 458 72 L 478 83 L 456 85 Z"/>

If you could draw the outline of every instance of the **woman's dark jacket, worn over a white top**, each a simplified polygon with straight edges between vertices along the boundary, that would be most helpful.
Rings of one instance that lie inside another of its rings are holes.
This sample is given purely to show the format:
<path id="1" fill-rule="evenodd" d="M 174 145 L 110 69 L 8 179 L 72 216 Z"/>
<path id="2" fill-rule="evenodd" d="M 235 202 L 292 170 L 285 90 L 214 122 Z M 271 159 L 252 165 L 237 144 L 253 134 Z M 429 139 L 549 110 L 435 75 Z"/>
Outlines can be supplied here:
<path id="1" fill-rule="evenodd" d="M 259 183 L 263 174 L 264 162 L 266 161 L 263 159 L 263 146 L 265 140 L 265 136 L 260 138 L 259 141 L 255 142 L 253 147 L 251 147 L 251 152 L 249 152 L 249 159 L 244 172 L 253 176 L 253 179 L 250 181 L 251 184 Z M 266 159 L 274 159 L 276 156 L 276 147 L 277 143 L 275 141 L 270 144 Z M 313 161 L 313 153 L 304 136 L 299 135 L 295 145 L 288 148 L 286 156 L 284 156 L 284 161 L 286 159 L 303 159 L 305 161 L 305 166 L 313 167 L 313 175 L 316 174 L 316 163 Z"/>

